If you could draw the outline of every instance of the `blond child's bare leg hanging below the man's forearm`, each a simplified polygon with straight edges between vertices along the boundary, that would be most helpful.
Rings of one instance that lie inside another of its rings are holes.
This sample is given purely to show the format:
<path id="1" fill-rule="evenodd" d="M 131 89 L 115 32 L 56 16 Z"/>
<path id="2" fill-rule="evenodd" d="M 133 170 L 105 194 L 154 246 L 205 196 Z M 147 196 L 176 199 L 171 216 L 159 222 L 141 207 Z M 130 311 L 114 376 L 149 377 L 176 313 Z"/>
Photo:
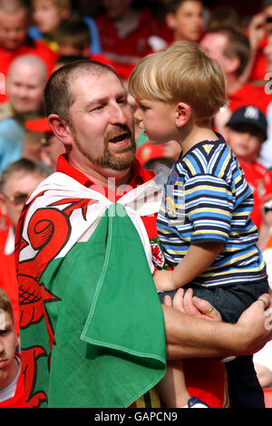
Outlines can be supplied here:
<path id="1" fill-rule="evenodd" d="M 186 388 L 182 361 L 168 363 L 167 373 L 157 389 L 167 407 L 187 407 L 190 395 Z"/>

